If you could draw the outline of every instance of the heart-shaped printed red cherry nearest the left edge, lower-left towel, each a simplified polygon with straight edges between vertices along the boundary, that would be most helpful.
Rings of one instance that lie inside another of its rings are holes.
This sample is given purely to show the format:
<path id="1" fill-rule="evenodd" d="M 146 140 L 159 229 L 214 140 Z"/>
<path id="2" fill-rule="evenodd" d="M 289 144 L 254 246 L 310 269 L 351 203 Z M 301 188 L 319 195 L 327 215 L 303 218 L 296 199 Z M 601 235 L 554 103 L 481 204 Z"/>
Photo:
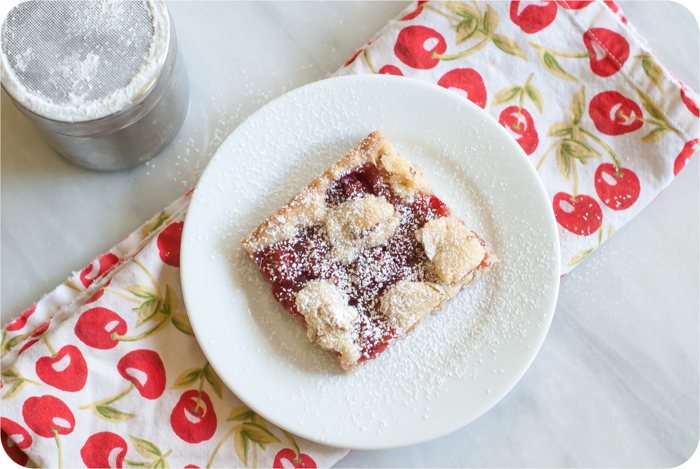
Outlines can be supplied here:
<path id="1" fill-rule="evenodd" d="M 66 345 L 55 357 L 41 357 L 36 361 L 40 380 L 61 391 L 77 392 L 87 381 L 87 363 L 75 345 Z"/>

